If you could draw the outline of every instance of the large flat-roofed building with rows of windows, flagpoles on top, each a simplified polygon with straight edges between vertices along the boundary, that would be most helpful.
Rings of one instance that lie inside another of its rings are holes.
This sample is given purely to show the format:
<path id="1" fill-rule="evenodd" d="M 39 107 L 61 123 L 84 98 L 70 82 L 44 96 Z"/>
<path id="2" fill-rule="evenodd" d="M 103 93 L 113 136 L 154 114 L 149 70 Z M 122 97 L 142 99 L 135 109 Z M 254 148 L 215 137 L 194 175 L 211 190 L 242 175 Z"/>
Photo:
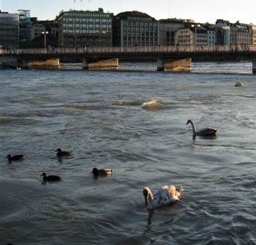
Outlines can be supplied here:
<path id="1" fill-rule="evenodd" d="M 112 14 L 98 11 L 61 11 L 58 19 L 59 47 L 111 47 Z"/>

